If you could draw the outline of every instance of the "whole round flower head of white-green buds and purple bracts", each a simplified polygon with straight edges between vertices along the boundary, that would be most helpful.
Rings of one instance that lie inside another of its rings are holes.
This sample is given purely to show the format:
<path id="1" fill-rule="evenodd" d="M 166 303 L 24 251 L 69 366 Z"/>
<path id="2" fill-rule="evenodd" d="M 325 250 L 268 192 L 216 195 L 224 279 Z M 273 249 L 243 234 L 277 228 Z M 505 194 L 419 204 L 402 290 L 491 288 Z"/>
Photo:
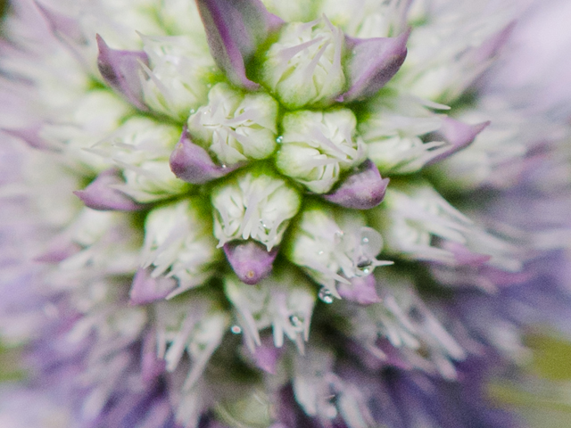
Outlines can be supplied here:
<path id="1" fill-rule="evenodd" d="M 566 132 L 475 96 L 515 14 L 13 2 L 0 333 L 70 408 L 54 424 L 508 426 L 478 391 L 526 354 L 489 302 L 561 230 L 486 195 Z"/>

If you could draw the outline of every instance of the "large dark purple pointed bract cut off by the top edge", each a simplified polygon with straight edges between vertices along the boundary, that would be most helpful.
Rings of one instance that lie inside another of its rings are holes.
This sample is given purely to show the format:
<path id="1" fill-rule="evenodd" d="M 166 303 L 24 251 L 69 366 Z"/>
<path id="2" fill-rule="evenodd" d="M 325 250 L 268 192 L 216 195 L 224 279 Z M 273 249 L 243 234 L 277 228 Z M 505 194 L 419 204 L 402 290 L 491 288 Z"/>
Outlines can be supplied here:
<path id="1" fill-rule="evenodd" d="M 245 62 L 283 21 L 269 13 L 260 0 L 196 0 L 196 4 L 219 68 L 236 86 L 260 87 L 246 78 Z"/>

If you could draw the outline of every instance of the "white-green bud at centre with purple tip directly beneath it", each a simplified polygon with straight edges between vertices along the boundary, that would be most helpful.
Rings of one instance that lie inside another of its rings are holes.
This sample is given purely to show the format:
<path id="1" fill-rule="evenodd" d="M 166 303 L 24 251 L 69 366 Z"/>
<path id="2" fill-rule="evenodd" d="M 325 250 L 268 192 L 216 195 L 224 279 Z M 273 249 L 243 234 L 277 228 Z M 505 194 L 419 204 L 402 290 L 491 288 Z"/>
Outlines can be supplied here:
<path id="1" fill-rule="evenodd" d="M 245 171 L 215 187 L 214 235 L 221 247 L 236 239 L 253 239 L 268 251 L 281 242 L 301 198 L 285 180 L 260 170 Z"/>

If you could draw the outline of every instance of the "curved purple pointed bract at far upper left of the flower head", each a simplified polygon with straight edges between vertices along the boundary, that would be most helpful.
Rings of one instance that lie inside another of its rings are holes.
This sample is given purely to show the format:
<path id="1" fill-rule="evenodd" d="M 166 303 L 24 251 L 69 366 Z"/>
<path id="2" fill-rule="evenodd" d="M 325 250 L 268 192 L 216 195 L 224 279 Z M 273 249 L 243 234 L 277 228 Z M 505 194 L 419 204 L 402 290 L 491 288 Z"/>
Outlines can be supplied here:
<path id="1" fill-rule="evenodd" d="M 149 64 L 149 58 L 143 51 L 120 51 L 110 48 L 103 38 L 97 37 L 99 56 L 97 67 L 105 82 L 125 96 L 137 109 L 147 111 L 143 103 L 143 87 L 139 76 L 141 62 Z"/>

